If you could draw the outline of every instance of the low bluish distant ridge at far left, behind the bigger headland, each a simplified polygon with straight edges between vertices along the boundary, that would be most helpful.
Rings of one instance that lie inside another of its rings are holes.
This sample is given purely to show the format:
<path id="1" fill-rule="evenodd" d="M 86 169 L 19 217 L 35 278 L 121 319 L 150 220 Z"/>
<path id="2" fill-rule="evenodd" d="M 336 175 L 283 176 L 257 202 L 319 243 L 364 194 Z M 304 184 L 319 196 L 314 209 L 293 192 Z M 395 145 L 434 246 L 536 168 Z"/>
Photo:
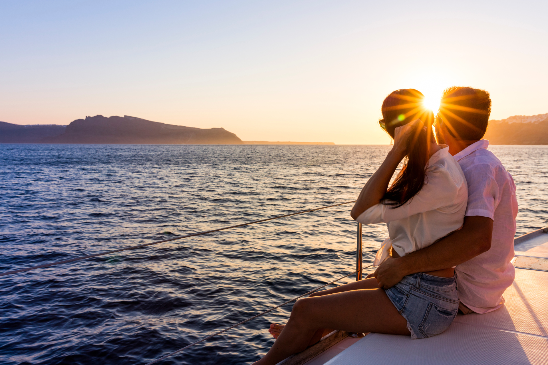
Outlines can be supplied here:
<path id="1" fill-rule="evenodd" d="M 44 138 L 63 134 L 66 125 L 19 125 L 0 121 L 0 143 L 44 143 Z"/>

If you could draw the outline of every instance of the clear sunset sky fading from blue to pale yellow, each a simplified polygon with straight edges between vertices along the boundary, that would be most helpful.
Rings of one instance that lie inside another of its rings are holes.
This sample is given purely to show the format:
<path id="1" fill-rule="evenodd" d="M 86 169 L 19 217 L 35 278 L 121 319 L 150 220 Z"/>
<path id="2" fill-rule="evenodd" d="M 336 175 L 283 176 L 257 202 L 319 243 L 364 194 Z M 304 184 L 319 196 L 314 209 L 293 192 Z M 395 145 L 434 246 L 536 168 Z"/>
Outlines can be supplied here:
<path id="1" fill-rule="evenodd" d="M 386 95 L 548 113 L 546 1 L 4 1 L 0 120 L 101 114 L 242 140 L 387 144 Z"/>

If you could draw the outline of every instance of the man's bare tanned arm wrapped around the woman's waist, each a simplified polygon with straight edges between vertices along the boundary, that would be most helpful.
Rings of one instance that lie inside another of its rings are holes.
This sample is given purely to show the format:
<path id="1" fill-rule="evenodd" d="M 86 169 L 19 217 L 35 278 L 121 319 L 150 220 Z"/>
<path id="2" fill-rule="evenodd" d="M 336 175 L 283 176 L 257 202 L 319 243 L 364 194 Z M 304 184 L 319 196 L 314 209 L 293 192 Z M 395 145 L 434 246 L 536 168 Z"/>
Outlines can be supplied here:
<path id="1" fill-rule="evenodd" d="M 464 226 L 452 235 L 406 256 L 389 257 L 375 270 L 379 287 L 388 289 L 404 276 L 447 269 L 470 260 L 491 248 L 493 219 L 482 216 L 464 218 Z"/>

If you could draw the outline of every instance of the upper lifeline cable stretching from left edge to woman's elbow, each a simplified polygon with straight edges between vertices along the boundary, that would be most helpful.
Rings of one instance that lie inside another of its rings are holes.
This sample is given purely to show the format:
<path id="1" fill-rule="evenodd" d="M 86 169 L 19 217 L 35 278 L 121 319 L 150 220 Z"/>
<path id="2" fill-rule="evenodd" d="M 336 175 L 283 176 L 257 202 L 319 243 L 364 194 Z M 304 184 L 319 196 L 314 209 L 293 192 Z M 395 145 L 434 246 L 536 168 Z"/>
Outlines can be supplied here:
<path id="1" fill-rule="evenodd" d="M 313 208 L 313 209 L 309 209 L 309 210 L 305 210 L 305 211 L 301 211 L 301 212 L 290 213 L 290 214 L 286 214 L 286 215 L 283 215 L 283 216 L 277 216 L 277 217 L 272 217 L 272 218 L 260 219 L 259 221 L 253 221 L 253 222 L 247 222 L 247 223 L 242 223 L 242 224 L 231 225 L 230 227 L 212 229 L 212 230 L 209 230 L 209 231 L 203 231 L 203 232 L 193 233 L 193 234 L 189 234 L 189 235 L 185 235 L 185 236 L 174 237 L 174 238 L 170 238 L 170 239 L 167 239 L 167 240 L 156 241 L 156 242 L 150 242 L 150 243 L 148 243 L 148 244 L 142 244 L 142 245 L 136 245 L 136 246 L 118 248 L 118 250 L 112 250 L 112 251 L 106 251 L 106 252 L 101 252 L 101 253 L 95 253 L 95 254 L 88 255 L 88 256 L 76 257 L 76 258 L 71 258 L 71 259 L 68 259 L 68 260 L 62 260 L 62 261 L 58 261 L 58 262 L 52 262 L 52 263 L 49 263 L 49 264 L 43 264 L 43 265 L 38 265 L 38 266 L 32 266 L 31 268 L 24 268 L 24 269 L 17 269 L 17 270 L 6 271 L 5 273 L 0 273 L 0 276 L 10 275 L 10 274 L 17 274 L 17 273 L 22 273 L 22 272 L 28 271 L 28 270 L 35 270 L 35 269 L 47 268 L 47 267 L 53 266 L 53 265 L 67 264 L 67 263 L 69 263 L 69 262 L 75 262 L 75 261 L 84 260 L 84 259 L 88 259 L 88 258 L 92 258 L 92 257 L 104 256 L 104 255 L 109 254 L 109 253 L 115 253 L 115 252 L 120 252 L 120 251 L 125 251 L 125 250 L 134 250 L 135 248 L 141 248 L 141 247 L 150 246 L 150 245 L 162 244 L 163 242 L 181 240 L 181 239 L 188 238 L 188 237 L 201 236 L 201 235 L 204 235 L 204 234 L 213 233 L 213 232 L 218 232 L 218 231 L 222 231 L 222 230 L 225 230 L 225 229 L 243 227 L 244 225 L 255 224 L 255 223 L 261 223 L 261 222 L 266 222 L 266 221 L 272 221 L 272 219 L 278 219 L 278 218 L 284 218 L 284 217 L 294 216 L 294 215 L 297 215 L 297 214 L 313 212 L 313 211 L 315 211 L 315 210 L 321 210 L 321 209 L 326 209 L 326 208 L 330 208 L 330 207 L 334 207 L 334 206 L 339 206 L 339 205 L 344 205 L 344 204 L 350 204 L 350 203 L 353 203 L 353 202 L 356 202 L 356 200 L 347 201 L 347 202 L 344 202 L 344 203 L 339 203 L 339 204 L 334 204 L 334 205 L 328 205 L 328 206 L 319 207 L 319 208 Z"/>

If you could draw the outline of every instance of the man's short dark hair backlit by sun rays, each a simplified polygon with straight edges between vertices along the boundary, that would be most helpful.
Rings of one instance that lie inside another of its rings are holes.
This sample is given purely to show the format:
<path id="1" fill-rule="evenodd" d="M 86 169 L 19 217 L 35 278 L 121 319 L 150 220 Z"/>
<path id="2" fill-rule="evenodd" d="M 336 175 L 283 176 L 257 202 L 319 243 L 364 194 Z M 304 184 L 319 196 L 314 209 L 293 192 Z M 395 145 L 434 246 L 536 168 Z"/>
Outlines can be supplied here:
<path id="1" fill-rule="evenodd" d="M 443 91 L 438 123 L 446 126 L 450 135 L 459 140 L 481 140 L 491 114 L 489 92 L 463 86 Z"/>

